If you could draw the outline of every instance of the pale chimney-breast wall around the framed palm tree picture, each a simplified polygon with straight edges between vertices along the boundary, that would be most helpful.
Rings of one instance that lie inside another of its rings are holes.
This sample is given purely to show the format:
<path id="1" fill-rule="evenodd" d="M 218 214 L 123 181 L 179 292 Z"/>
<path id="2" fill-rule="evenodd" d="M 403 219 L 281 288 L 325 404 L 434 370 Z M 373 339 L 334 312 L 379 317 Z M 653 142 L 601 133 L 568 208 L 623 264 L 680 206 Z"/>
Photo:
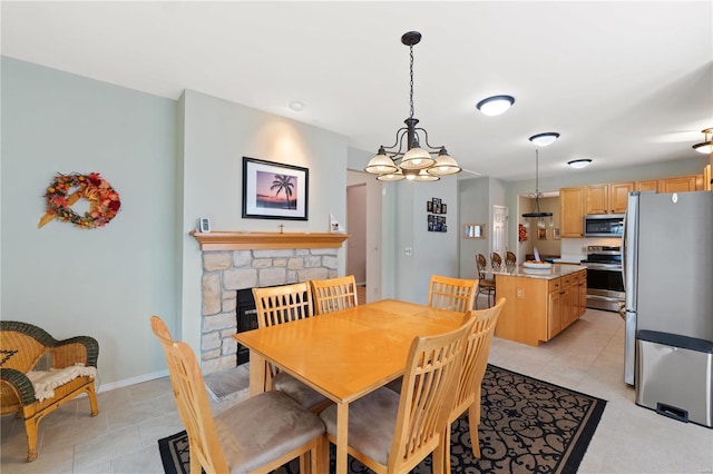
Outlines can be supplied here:
<path id="1" fill-rule="evenodd" d="M 329 215 L 346 221 L 346 138 L 257 109 L 186 90 L 183 97 L 182 337 L 201 337 L 202 255 L 188 236 L 199 217 L 214 230 L 326 233 Z M 243 157 L 309 168 L 309 220 L 243 219 Z M 339 271 L 345 270 L 344 249 Z M 233 310 L 233 309 L 231 309 Z"/>

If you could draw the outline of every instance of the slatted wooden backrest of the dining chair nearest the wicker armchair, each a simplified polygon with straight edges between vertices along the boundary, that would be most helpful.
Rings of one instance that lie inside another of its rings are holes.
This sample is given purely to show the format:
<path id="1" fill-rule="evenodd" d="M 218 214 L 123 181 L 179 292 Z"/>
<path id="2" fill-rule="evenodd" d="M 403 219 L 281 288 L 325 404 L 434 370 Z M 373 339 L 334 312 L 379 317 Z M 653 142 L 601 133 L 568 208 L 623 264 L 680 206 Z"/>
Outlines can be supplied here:
<path id="1" fill-rule="evenodd" d="M 173 340 L 158 316 L 152 317 L 152 329 L 164 348 L 178 415 L 188 435 L 192 464 L 197 461 L 208 473 L 228 472 L 195 354 L 186 343 Z"/>

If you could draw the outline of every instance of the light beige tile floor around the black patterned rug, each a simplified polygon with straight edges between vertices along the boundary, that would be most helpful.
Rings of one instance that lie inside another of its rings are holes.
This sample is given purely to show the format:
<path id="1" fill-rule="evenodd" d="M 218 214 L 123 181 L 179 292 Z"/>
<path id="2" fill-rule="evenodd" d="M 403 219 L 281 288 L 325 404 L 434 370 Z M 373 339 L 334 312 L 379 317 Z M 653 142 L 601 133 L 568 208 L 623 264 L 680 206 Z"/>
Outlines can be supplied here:
<path id="1" fill-rule="evenodd" d="M 496 338 L 490 362 L 608 401 L 579 473 L 713 473 L 713 429 L 635 405 L 634 389 L 622 381 L 623 344 L 619 316 L 588 309 L 539 347 Z M 33 463 L 25 462 L 22 424 L 2 417 L 2 473 L 162 473 L 156 441 L 183 429 L 169 381 L 98 396 L 96 417 L 80 398 L 40 423 L 40 456 Z M 217 413 L 238 401 L 213 407 Z"/>

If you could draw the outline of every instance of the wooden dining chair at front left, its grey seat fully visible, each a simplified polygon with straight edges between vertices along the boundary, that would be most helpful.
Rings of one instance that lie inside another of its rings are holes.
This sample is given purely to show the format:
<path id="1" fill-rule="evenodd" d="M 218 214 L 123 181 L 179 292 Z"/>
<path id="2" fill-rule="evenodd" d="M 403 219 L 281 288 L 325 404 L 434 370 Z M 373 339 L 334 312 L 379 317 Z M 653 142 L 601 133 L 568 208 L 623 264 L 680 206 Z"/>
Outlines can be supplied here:
<path id="1" fill-rule="evenodd" d="M 322 473 L 324 424 L 282 392 L 252 396 L 217 416 L 201 367 L 186 343 L 173 340 L 158 316 L 152 329 L 164 348 L 178 415 L 188 435 L 191 473 L 267 473 L 300 456 L 300 472 Z M 310 462 L 307 462 L 307 458 Z"/>

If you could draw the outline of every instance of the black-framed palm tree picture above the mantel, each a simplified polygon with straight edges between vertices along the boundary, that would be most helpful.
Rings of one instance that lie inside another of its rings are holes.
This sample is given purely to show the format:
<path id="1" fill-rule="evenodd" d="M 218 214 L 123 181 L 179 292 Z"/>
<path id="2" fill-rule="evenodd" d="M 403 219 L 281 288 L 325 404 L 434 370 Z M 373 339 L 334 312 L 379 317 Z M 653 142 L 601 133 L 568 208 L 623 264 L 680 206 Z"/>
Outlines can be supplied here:
<path id="1" fill-rule="evenodd" d="M 310 170 L 243 157 L 243 217 L 307 220 Z"/>

